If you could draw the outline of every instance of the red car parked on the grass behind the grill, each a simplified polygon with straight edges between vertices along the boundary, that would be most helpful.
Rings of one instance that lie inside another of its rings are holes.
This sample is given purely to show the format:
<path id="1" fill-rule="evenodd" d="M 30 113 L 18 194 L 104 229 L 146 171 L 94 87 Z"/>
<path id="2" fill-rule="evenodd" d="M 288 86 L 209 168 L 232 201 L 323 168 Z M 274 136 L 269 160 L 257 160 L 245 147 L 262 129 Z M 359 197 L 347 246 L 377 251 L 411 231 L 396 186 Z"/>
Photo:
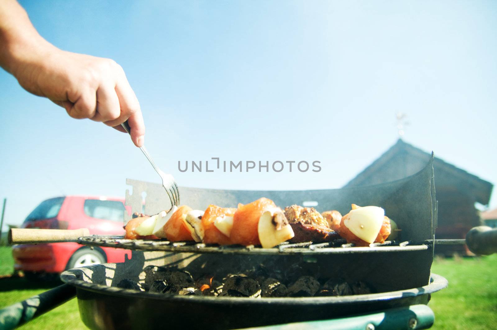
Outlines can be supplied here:
<path id="1" fill-rule="evenodd" d="M 22 228 L 79 229 L 90 235 L 123 235 L 124 200 L 109 197 L 66 196 L 40 203 Z M 25 272 L 60 273 L 66 269 L 104 262 L 123 262 L 131 251 L 122 248 L 93 249 L 77 243 L 25 244 L 12 247 L 14 268 Z"/>

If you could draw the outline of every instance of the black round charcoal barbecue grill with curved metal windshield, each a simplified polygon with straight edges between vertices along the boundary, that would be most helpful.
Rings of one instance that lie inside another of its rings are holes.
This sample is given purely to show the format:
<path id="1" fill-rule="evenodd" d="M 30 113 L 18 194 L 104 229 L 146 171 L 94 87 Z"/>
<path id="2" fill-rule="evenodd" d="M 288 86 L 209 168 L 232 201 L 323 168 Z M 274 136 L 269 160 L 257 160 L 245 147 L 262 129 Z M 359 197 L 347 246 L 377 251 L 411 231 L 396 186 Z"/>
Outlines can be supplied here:
<path id="1" fill-rule="evenodd" d="M 228 207 L 261 196 L 277 205 L 313 201 L 319 211 L 337 209 L 343 214 L 351 203 L 378 205 L 402 229 L 398 241 L 365 248 L 344 241 L 284 243 L 275 248 L 260 248 L 134 241 L 115 236 L 66 236 L 64 241 L 86 246 L 131 249 L 132 257 L 123 263 L 65 271 L 61 279 L 66 284 L 40 295 L 35 313 L 19 314 L 23 311 L 19 307 L 10 307 L 2 313 L 13 315 L 10 325 L 16 325 L 72 298 L 76 288 L 82 320 L 91 329 L 236 329 L 295 322 L 298 323 L 293 327 L 299 329 L 306 325 L 322 329 L 429 328 L 434 317 L 425 305 L 431 293 L 447 286 L 443 277 L 430 273 L 434 244 L 464 243 L 463 240 L 434 240 L 437 204 L 432 162 L 433 158 L 424 169 L 405 179 L 368 187 L 308 191 L 181 188 L 182 200 L 194 209 L 205 209 L 211 203 Z M 126 203 L 134 210 L 141 211 L 144 191 L 147 192 L 146 213 L 155 214 L 166 208 L 167 197 L 153 193 L 161 190 L 160 185 L 129 179 L 127 183 L 133 185 L 133 194 L 127 192 Z M 155 203 L 149 203 L 149 196 L 155 196 Z M 23 238 L 22 232 L 14 236 L 12 234 L 11 239 L 17 242 L 41 242 L 36 237 Z M 45 237 L 44 242 L 60 240 L 52 235 Z M 343 278 L 350 283 L 365 281 L 375 293 L 250 299 L 159 295 L 116 287 L 125 278 L 143 281 L 144 269 L 149 265 L 174 266 L 192 274 L 245 272 L 263 265 L 288 278 L 311 275 L 318 279 Z M 29 303 L 24 303 L 25 310 Z M 5 315 L 2 313 L 0 316 Z"/>

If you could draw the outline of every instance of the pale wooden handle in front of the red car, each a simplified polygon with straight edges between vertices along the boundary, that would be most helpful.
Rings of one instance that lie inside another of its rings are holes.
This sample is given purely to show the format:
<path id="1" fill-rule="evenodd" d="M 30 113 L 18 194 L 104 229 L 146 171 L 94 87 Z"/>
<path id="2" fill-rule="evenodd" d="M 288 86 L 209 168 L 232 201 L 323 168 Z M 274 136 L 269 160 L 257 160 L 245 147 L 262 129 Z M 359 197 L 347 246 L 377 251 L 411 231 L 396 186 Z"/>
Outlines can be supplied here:
<path id="1" fill-rule="evenodd" d="M 75 230 L 12 228 L 8 232 L 8 244 L 73 242 L 89 235 L 90 232 L 86 228 Z"/>

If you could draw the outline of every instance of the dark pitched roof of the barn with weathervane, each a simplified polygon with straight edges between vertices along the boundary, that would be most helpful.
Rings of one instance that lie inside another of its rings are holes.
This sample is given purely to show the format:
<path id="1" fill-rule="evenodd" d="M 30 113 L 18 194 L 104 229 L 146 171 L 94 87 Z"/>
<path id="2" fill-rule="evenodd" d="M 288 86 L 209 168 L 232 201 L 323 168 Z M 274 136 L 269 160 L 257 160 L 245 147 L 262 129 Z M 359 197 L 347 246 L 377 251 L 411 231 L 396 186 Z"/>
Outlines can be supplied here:
<path id="1" fill-rule="evenodd" d="M 423 164 L 426 165 L 430 157 L 430 153 L 399 139 L 395 145 L 357 174 L 344 187 L 375 184 L 412 175 L 419 171 Z M 493 188 L 492 183 L 439 158 L 435 158 L 433 168 L 436 187 L 437 183 L 441 182 L 445 186 L 451 184 L 456 188 L 464 186 L 465 193 L 473 195 L 476 202 L 484 205 L 489 203 Z"/>

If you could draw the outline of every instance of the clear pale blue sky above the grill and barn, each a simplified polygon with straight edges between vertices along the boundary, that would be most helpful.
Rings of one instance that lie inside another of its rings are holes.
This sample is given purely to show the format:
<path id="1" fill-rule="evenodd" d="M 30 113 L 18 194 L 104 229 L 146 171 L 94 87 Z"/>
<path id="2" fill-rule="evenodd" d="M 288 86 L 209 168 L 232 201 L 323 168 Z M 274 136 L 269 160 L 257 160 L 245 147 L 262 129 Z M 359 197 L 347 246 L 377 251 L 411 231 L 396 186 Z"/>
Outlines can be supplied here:
<path id="1" fill-rule="evenodd" d="M 108 57 L 145 144 L 180 185 L 337 188 L 397 140 L 497 183 L 495 1 L 21 1 L 40 34 Z M 0 70 L 5 223 L 61 194 L 158 181 L 129 138 L 70 118 Z M 318 173 L 185 172 L 178 161 L 321 162 Z M 497 207 L 494 194 L 491 207 Z"/>

